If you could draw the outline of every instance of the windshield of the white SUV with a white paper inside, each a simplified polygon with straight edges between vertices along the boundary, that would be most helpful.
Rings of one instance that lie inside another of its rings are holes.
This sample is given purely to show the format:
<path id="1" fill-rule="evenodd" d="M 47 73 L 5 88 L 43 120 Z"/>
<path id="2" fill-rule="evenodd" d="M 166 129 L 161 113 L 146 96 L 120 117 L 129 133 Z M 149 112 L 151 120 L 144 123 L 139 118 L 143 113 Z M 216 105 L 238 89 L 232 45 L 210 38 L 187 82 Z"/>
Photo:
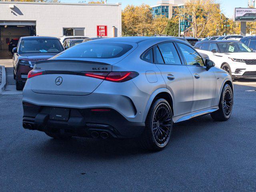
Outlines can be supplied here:
<path id="1" fill-rule="evenodd" d="M 218 43 L 221 53 L 252 52 L 245 44 L 239 42 Z"/>

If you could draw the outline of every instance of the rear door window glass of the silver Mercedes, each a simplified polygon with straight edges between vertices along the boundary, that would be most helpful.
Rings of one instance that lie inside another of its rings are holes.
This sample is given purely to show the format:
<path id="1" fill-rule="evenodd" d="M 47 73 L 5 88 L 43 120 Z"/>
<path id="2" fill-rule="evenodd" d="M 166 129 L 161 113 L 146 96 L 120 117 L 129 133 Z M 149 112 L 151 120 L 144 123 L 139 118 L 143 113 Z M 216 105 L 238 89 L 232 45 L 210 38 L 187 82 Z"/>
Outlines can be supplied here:
<path id="1" fill-rule="evenodd" d="M 163 43 L 158 45 L 160 52 L 164 58 L 165 64 L 180 64 L 180 57 L 173 43 Z"/>

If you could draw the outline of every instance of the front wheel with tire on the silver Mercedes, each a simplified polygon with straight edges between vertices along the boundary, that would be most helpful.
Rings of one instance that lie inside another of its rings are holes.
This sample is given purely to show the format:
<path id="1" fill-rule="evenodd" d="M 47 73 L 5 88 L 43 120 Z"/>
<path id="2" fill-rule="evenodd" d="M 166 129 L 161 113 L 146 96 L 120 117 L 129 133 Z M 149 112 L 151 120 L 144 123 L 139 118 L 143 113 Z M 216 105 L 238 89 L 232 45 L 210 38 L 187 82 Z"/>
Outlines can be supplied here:
<path id="1" fill-rule="evenodd" d="M 230 96 L 228 96 L 229 94 Z M 230 118 L 233 108 L 233 98 L 233 91 L 230 85 L 225 84 L 220 95 L 219 109 L 211 113 L 214 120 L 226 121 Z"/>

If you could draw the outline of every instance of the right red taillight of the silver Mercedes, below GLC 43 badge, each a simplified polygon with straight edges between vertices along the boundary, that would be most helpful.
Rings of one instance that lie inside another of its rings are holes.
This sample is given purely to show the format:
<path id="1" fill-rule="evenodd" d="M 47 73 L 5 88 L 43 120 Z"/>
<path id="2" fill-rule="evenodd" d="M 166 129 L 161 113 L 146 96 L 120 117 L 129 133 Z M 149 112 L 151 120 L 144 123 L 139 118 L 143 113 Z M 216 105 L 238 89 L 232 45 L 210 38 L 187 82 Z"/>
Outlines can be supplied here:
<path id="1" fill-rule="evenodd" d="M 139 74 L 137 72 L 86 72 L 85 76 L 98 78 L 112 82 L 125 82 L 135 78 Z"/>

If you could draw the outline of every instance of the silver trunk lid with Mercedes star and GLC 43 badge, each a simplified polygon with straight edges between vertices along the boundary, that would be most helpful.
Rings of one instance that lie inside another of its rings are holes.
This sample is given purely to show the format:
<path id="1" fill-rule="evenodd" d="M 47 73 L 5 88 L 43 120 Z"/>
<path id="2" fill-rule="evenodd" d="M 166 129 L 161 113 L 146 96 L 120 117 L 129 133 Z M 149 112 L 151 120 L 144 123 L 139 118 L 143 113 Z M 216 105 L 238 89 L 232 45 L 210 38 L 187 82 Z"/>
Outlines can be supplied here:
<path id="1" fill-rule="evenodd" d="M 85 72 L 111 72 L 111 59 L 106 62 L 82 60 L 44 60 L 36 62 L 34 70 L 44 70 L 44 75 L 30 79 L 31 90 L 41 94 L 88 95 L 102 79 L 85 76 Z"/>

